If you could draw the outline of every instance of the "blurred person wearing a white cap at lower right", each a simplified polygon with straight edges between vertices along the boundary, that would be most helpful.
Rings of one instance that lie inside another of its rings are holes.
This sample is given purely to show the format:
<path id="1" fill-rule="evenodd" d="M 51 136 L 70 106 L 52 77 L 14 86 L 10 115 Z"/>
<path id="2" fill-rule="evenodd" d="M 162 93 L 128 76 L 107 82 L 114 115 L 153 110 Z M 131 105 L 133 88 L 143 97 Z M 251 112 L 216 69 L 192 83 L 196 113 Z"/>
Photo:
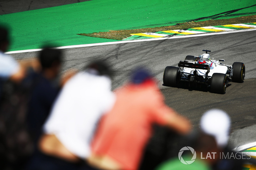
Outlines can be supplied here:
<path id="1" fill-rule="evenodd" d="M 237 155 L 230 148 L 228 148 L 228 138 L 230 133 L 231 121 L 229 115 L 223 110 L 212 109 L 204 113 L 200 121 L 200 129 L 205 134 L 212 135 L 219 148 L 218 154 L 220 157 L 216 158 L 212 168 L 214 170 L 241 170 L 243 169 L 244 159 L 237 159 L 239 157 L 230 157 L 230 155 Z M 229 156 L 227 156 L 229 155 Z M 240 155 L 242 158 L 242 155 Z M 248 160 L 248 159 L 247 159 Z"/>

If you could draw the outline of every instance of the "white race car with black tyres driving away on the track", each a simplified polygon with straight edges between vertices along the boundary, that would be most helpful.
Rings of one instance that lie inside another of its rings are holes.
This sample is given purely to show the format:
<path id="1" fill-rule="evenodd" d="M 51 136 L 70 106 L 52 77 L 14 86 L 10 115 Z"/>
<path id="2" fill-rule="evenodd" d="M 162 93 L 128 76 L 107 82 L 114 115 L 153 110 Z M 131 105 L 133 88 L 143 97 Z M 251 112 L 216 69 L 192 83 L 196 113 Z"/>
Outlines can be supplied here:
<path id="1" fill-rule="evenodd" d="M 190 84 L 206 84 L 211 92 L 224 94 L 227 83 L 242 83 L 245 76 L 244 63 L 235 62 L 233 65 L 225 65 L 220 62 L 225 60 L 211 60 L 208 52 L 199 56 L 187 55 L 184 61 L 180 61 L 178 67 L 167 66 L 164 70 L 163 82 L 166 86 L 175 87 L 180 81 Z"/>

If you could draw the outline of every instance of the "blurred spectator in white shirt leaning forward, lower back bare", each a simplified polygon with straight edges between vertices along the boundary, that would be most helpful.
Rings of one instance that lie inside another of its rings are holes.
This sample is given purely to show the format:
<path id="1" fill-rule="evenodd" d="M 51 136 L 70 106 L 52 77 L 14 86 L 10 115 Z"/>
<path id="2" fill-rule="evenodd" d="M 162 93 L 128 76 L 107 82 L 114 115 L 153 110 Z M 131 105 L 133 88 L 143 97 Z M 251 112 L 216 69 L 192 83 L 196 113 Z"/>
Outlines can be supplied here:
<path id="1" fill-rule="evenodd" d="M 108 65 L 97 61 L 67 81 L 44 124 L 40 152 L 28 169 L 93 169 L 85 159 L 98 120 L 115 101 L 110 76 Z"/>

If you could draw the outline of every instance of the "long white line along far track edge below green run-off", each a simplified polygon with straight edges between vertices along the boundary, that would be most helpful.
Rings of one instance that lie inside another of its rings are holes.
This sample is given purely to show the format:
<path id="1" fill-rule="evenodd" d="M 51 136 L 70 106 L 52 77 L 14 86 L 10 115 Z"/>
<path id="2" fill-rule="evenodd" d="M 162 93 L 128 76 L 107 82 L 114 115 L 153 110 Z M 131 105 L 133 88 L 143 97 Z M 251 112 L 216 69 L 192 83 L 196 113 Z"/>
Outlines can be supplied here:
<path id="1" fill-rule="evenodd" d="M 163 37 L 163 38 L 150 38 L 150 39 L 142 39 L 142 40 L 115 41 L 115 42 L 102 42 L 102 43 L 94 43 L 94 44 L 71 45 L 71 46 L 57 47 L 57 49 L 92 47 L 92 46 L 100 46 L 100 45 L 122 44 L 122 43 L 141 42 L 141 41 L 157 41 L 157 40 L 165 40 L 165 39 L 199 37 L 199 36 L 208 36 L 208 35 L 217 35 L 217 34 L 226 34 L 226 33 L 238 33 L 238 32 L 246 32 L 246 31 L 256 31 L 256 28 L 245 29 L 245 30 L 236 30 L 236 31 L 227 31 L 227 32 L 190 34 L 190 35 L 181 35 L 181 36 L 173 36 L 173 37 Z M 42 49 L 19 50 L 19 51 L 6 52 L 5 54 L 26 53 L 26 52 L 34 52 L 34 51 L 41 51 L 41 50 Z"/>

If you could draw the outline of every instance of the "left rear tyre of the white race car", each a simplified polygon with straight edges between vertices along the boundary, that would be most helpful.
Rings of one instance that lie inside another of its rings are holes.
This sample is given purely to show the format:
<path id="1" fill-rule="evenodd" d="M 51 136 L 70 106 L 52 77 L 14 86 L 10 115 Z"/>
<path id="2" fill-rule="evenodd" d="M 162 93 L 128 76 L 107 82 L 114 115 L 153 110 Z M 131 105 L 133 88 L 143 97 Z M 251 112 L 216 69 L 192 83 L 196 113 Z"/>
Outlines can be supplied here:
<path id="1" fill-rule="evenodd" d="M 167 66 L 164 70 L 163 82 L 166 86 L 175 87 L 180 82 L 180 69 Z"/>

